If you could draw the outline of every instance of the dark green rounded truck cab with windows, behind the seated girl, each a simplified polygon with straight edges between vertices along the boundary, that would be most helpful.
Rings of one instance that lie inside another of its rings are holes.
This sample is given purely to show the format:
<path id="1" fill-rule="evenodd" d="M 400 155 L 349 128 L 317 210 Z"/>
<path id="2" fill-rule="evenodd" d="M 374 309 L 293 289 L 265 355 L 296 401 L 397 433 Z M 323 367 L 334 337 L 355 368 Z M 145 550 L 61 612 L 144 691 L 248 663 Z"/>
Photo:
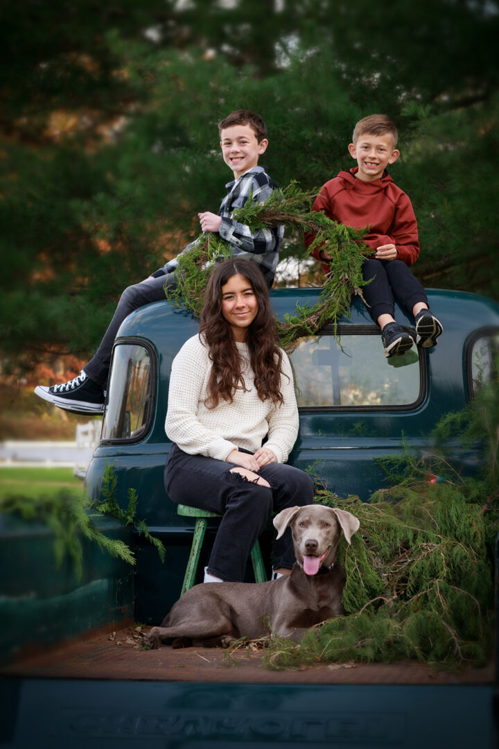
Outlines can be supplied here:
<path id="1" fill-rule="evenodd" d="M 272 303 L 279 318 L 313 304 L 317 289 L 279 289 Z M 490 300 L 454 291 L 433 291 L 429 301 L 444 321 L 444 335 L 432 350 L 415 347 L 387 360 L 379 329 L 364 303 L 354 300 L 352 319 L 337 330 L 299 339 L 290 354 L 300 410 L 299 437 L 290 463 L 313 472 L 340 496 L 367 500 L 385 476 L 373 461 L 405 443 L 425 448 L 429 432 L 448 411 L 461 410 L 479 380 L 492 376 L 499 342 L 499 309 Z M 402 311 L 397 318 L 411 327 Z M 144 307 L 123 323 L 114 346 L 109 397 L 100 446 L 86 477 L 91 497 L 100 491 L 105 462 L 118 477 L 118 500 L 126 505 L 130 487 L 138 492 L 138 518 L 174 549 L 173 560 L 155 563 L 144 545 L 135 612 L 142 622 L 161 619 L 178 597 L 190 530 L 165 494 L 163 469 L 169 443 L 165 413 L 171 363 L 198 324 L 169 303 Z M 186 383 L 189 387 L 189 383 Z M 456 456 L 465 470 L 474 455 Z M 150 558 L 149 558 L 150 557 Z M 154 567 L 154 570 L 153 570 Z M 144 574 L 144 585 L 141 576 Z M 146 582 L 147 580 L 147 582 Z M 146 592 L 147 591 L 147 592 Z"/>

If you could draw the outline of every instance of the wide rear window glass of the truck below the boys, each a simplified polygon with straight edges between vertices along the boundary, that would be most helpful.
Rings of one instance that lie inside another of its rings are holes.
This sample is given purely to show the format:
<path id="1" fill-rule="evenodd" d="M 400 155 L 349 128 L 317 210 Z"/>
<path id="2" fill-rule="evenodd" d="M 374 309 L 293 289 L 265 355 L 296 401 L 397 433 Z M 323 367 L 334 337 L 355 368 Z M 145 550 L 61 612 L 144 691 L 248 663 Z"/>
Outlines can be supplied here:
<path id="1" fill-rule="evenodd" d="M 290 355 L 299 406 L 407 406 L 421 389 L 414 345 L 385 357 L 379 335 L 307 336 Z"/>

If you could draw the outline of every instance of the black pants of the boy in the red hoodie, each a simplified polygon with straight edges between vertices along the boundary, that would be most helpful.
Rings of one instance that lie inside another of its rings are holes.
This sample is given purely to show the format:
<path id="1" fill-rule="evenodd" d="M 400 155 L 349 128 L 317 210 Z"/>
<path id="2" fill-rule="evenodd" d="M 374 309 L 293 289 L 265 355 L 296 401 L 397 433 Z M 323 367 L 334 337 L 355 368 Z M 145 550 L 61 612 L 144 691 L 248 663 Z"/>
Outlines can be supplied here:
<path id="1" fill-rule="evenodd" d="M 376 323 L 379 315 L 394 317 L 394 298 L 410 314 L 417 302 L 428 304 L 423 286 L 402 260 L 366 258 L 362 264 L 362 276 L 364 281 L 373 279 L 362 287 L 362 294 Z"/>

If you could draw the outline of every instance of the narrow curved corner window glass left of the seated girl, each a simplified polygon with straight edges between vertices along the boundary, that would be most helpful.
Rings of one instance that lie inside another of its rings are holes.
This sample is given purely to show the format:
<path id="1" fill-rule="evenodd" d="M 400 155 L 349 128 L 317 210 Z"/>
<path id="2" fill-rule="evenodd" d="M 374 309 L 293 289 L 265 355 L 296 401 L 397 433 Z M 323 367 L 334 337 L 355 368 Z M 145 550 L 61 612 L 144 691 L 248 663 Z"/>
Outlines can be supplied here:
<path id="1" fill-rule="evenodd" d="M 136 439 L 145 430 L 151 404 L 150 354 L 144 346 L 114 347 L 102 440 Z"/>

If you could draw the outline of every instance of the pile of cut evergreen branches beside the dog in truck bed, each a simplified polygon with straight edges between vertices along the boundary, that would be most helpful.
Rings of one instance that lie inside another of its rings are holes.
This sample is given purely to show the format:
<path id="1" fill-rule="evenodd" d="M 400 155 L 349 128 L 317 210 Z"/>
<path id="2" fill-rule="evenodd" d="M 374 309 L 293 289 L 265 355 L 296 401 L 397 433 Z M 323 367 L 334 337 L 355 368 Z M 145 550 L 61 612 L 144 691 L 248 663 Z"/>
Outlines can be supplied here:
<path id="1" fill-rule="evenodd" d="M 438 449 L 456 433 L 465 444 L 482 442 L 485 467 L 475 479 L 462 479 Z M 369 503 L 319 486 L 318 502 L 361 522 L 338 555 L 347 615 L 309 631 L 300 644 L 278 638 L 266 651 L 268 667 L 408 659 L 456 667 L 489 657 L 499 532 L 498 383 L 484 386 L 463 413 L 445 416 L 435 439 L 430 457 L 405 449 L 382 458 L 393 485 Z"/>

